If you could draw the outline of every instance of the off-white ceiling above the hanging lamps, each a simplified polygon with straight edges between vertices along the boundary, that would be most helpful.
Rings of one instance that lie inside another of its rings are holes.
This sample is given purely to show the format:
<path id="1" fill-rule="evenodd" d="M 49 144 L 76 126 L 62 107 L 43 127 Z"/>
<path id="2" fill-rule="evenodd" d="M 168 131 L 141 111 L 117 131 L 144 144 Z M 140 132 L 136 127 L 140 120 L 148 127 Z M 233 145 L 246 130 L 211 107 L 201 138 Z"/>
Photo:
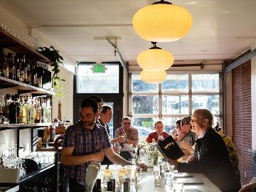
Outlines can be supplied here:
<path id="1" fill-rule="evenodd" d="M 116 61 L 107 40 L 119 37 L 117 48 L 125 61 L 151 43 L 137 36 L 132 17 L 146 0 L 0 0 L 0 6 L 39 31 L 75 61 Z M 158 43 L 175 60 L 232 59 L 255 46 L 256 0 L 174 0 L 193 16 L 191 31 L 181 40 Z M 112 41 L 114 43 L 114 41 Z M 50 46 L 50 45 L 49 45 Z"/>

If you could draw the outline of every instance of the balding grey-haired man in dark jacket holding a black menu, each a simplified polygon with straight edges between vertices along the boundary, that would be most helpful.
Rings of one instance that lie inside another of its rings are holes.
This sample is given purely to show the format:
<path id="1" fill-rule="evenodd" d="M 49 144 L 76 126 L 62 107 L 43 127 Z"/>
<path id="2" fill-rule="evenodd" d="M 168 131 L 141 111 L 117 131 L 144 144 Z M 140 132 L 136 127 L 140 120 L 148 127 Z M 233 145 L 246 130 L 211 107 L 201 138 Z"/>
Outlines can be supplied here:
<path id="1" fill-rule="evenodd" d="M 179 172 L 204 174 L 221 191 L 238 191 L 240 181 L 235 175 L 223 139 L 212 128 L 213 114 L 208 110 L 198 109 L 191 118 L 193 132 L 196 132 L 196 148 L 193 161 L 179 163 L 168 159 Z"/>

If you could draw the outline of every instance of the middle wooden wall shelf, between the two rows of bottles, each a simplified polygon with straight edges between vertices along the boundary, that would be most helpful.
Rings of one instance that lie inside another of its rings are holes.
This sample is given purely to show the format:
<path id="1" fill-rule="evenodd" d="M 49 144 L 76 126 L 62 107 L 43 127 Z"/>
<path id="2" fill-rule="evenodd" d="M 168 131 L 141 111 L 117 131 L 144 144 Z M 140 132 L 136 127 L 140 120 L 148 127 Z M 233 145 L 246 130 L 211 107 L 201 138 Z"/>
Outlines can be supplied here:
<path id="1" fill-rule="evenodd" d="M 16 87 L 17 90 L 24 90 L 36 94 L 54 95 L 54 92 L 52 90 L 45 90 L 43 88 L 35 87 L 23 82 L 18 82 L 16 80 L 11 80 L 9 78 L 4 78 L 0 76 L 0 89 L 4 89 L 7 87 Z"/>

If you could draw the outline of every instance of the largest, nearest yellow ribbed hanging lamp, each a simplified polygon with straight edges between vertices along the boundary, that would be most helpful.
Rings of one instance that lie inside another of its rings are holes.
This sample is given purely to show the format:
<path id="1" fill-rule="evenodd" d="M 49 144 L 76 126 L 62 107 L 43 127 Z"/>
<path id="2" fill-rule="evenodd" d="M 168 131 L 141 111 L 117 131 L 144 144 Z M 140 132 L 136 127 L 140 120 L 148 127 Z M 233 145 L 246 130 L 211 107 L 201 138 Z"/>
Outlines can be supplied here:
<path id="1" fill-rule="evenodd" d="M 177 41 L 188 33 L 193 23 L 191 14 L 167 1 L 139 9 L 132 18 L 134 30 L 146 41 Z"/>

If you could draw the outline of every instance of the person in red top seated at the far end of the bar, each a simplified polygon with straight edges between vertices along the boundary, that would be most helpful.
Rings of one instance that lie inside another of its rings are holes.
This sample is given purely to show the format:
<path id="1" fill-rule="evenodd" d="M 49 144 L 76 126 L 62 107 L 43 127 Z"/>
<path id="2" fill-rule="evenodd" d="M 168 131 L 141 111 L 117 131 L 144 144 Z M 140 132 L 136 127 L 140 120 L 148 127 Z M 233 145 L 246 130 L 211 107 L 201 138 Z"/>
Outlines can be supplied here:
<path id="1" fill-rule="evenodd" d="M 154 140 L 155 142 L 159 142 L 166 139 L 166 137 L 169 137 L 169 134 L 167 132 L 164 132 L 164 124 L 162 121 L 155 122 L 154 129 L 156 130 L 156 132 L 151 132 L 146 138 L 146 142 L 151 143 L 152 140 Z"/>

